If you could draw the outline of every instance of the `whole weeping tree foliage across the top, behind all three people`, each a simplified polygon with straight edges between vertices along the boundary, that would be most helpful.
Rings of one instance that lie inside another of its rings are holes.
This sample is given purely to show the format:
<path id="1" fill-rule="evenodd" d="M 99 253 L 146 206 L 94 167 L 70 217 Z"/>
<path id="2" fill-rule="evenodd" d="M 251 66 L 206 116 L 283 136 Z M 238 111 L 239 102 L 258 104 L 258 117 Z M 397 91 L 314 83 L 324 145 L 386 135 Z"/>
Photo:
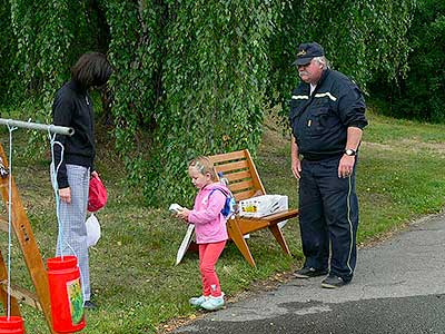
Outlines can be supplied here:
<path id="1" fill-rule="evenodd" d="M 107 52 L 116 149 L 128 179 L 150 205 L 189 204 L 189 159 L 255 153 L 265 110 L 297 84 L 298 43 L 320 42 L 363 88 L 376 73 L 386 80 L 404 72 L 414 1 L 10 0 L 0 8 L 1 41 L 11 46 L 0 49 L 0 70 L 17 70 L 9 82 L 16 100 L 42 107 L 23 117 L 48 120 L 79 55 Z"/>

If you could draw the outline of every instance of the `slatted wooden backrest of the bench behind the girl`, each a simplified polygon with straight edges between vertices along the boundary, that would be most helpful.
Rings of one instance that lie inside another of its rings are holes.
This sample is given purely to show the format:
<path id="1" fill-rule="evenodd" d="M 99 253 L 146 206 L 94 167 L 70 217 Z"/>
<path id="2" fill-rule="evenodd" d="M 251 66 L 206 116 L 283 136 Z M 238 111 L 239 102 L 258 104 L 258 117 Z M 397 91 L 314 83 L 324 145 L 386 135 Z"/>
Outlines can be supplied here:
<path id="1" fill-rule="evenodd" d="M 229 189 L 236 202 L 266 195 L 257 168 L 247 149 L 215 155 L 209 158 L 214 163 L 216 171 L 222 173 L 224 177 L 229 180 Z"/>

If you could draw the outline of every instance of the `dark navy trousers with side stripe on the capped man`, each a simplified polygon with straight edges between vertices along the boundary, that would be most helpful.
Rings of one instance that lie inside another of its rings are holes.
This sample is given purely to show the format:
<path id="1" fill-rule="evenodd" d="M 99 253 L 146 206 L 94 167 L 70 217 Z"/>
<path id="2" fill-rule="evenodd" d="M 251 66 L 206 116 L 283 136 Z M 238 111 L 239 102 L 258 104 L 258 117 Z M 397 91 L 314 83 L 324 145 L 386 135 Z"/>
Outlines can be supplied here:
<path id="1" fill-rule="evenodd" d="M 355 167 L 350 177 L 338 177 L 340 157 L 301 161 L 299 225 L 305 267 L 326 269 L 349 282 L 357 258 L 358 200 Z"/>

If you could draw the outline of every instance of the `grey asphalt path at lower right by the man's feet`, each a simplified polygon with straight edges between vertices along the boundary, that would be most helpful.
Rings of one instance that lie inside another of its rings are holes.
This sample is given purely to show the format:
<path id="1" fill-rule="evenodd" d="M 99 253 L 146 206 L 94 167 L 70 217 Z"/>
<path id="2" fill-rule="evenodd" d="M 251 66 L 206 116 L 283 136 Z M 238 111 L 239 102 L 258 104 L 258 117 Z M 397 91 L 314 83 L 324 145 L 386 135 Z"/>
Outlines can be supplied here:
<path id="1" fill-rule="evenodd" d="M 322 279 L 290 279 L 174 333 L 445 333 L 445 214 L 359 249 L 349 285 Z"/>

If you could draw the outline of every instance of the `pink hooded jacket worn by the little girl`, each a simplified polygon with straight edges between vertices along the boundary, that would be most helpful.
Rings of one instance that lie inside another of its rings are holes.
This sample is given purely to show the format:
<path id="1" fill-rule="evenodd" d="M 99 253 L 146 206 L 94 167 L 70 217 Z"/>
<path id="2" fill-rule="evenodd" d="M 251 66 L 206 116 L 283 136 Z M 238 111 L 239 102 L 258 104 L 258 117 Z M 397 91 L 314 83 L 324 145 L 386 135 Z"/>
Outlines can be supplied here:
<path id="1" fill-rule="evenodd" d="M 215 188 L 227 187 L 220 183 L 205 186 L 195 198 L 194 209 L 188 215 L 188 222 L 195 224 L 197 244 L 218 243 L 228 239 L 226 218 L 221 209 L 226 203 L 226 195 Z"/>

